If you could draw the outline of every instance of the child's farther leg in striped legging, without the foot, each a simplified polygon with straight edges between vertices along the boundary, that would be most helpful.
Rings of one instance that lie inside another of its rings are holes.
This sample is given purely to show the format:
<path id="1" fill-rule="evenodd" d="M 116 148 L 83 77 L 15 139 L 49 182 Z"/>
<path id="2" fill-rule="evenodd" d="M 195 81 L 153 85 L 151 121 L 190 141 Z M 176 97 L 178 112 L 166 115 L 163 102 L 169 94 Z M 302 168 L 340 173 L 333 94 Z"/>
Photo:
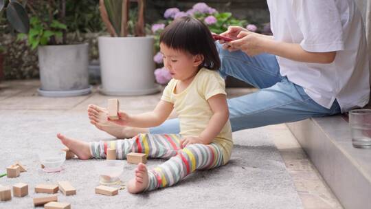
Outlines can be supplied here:
<path id="1" fill-rule="evenodd" d="M 117 159 L 126 159 L 131 152 L 146 153 L 148 157 L 168 159 L 177 155 L 180 149 L 177 134 L 146 134 L 141 133 L 131 139 L 91 142 L 91 155 L 95 158 L 106 158 L 107 148 L 115 148 Z"/>

